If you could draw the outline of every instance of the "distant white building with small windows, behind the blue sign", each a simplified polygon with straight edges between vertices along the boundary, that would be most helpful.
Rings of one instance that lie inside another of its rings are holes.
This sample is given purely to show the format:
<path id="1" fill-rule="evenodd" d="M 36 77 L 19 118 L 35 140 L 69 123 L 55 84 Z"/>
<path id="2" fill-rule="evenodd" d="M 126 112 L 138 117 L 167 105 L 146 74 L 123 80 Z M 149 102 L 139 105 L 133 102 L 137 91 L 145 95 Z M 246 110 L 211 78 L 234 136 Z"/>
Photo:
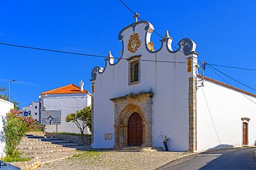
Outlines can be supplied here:
<path id="1" fill-rule="evenodd" d="M 31 116 L 35 121 L 39 121 L 39 102 L 32 102 L 26 107 L 22 107 L 23 116 Z"/>

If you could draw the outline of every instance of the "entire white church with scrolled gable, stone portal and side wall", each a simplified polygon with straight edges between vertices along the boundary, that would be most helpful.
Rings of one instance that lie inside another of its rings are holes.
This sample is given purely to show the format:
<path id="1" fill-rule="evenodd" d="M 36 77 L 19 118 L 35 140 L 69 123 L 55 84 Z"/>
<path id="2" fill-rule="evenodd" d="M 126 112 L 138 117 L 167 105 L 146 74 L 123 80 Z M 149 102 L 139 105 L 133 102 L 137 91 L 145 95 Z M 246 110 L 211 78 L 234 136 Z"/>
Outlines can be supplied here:
<path id="1" fill-rule="evenodd" d="M 153 30 L 147 21 L 122 29 L 121 59 L 109 53 L 91 72 L 92 147 L 163 147 L 165 136 L 170 151 L 254 145 L 256 96 L 211 78 L 200 87 L 196 43 L 173 50 L 166 32 L 154 50 Z"/>

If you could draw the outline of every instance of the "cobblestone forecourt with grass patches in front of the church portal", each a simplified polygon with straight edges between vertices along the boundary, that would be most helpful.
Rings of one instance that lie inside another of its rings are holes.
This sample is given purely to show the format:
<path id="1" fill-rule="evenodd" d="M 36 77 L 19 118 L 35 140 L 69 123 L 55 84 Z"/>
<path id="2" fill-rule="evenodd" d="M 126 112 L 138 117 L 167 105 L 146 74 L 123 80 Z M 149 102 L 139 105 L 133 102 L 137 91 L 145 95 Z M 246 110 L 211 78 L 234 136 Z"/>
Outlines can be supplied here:
<path id="1" fill-rule="evenodd" d="M 39 169 L 156 169 L 172 160 L 188 156 L 183 152 L 81 151 L 73 158 L 44 164 Z"/>

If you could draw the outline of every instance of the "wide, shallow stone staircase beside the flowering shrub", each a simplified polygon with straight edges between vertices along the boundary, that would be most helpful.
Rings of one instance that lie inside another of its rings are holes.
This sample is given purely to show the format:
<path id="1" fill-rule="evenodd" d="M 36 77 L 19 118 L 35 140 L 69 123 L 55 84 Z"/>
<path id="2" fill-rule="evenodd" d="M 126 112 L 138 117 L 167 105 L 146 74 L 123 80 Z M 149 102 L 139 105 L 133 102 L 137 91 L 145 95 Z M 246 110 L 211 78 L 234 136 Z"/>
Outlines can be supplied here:
<path id="1" fill-rule="evenodd" d="M 89 145 L 81 145 L 59 138 L 27 135 L 21 140 L 18 150 L 21 156 L 40 158 L 41 164 L 69 158 L 77 154 L 77 150 L 88 150 Z"/>

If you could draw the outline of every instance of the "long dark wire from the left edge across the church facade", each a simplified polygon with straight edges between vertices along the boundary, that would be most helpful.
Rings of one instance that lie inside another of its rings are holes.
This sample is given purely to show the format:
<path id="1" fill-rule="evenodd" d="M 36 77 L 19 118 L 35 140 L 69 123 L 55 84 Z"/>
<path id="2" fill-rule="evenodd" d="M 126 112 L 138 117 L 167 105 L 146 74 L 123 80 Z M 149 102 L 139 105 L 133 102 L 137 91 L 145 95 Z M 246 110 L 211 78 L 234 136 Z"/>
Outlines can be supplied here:
<path id="1" fill-rule="evenodd" d="M 42 51 L 46 51 L 46 52 L 58 52 L 58 53 L 64 53 L 64 54 L 75 54 L 75 55 L 80 55 L 80 56 L 99 57 L 99 58 L 104 58 L 104 59 L 108 58 L 108 56 L 100 56 L 100 55 L 94 55 L 94 54 L 84 54 L 84 53 L 77 53 L 77 52 L 66 52 L 66 51 L 51 50 L 51 49 L 40 48 L 40 47 L 30 47 L 30 46 L 24 46 L 24 45 L 15 45 L 15 44 L 10 44 L 10 43 L 0 43 L 0 45 L 8 45 L 8 46 L 12 46 L 12 47 L 22 47 L 22 48 L 27 48 L 27 49 L 32 49 L 32 50 L 42 50 Z M 125 58 L 117 58 L 117 57 L 113 57 L 113 59 L 127 60 Z M 131 59 L 131 61 L 132 60 L 133 59 Z M 155 62 L 155 63 L 180 63 L 180 64 L 186 64 L 187 63 L 185 61 L 157 61 L 157 60 L 145 60 L 145 59 L 140 59 L 139 61 Z"/>

